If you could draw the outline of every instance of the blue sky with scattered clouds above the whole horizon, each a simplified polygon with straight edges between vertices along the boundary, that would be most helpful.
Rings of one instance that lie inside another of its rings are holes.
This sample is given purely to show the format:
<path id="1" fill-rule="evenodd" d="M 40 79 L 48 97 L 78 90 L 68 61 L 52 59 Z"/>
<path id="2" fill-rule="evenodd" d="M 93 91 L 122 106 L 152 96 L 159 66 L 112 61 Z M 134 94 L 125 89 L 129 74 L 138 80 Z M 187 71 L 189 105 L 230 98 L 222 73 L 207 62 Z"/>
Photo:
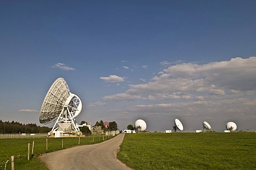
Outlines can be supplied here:
<path id="1" fill-rule="evenodd" d="M 255 1 L 1 1 L 0 119 L 39 123 L 59 77 L 77 122 L 256 129 Z M 51 124 L 49 124 L 51 126 Z"/>

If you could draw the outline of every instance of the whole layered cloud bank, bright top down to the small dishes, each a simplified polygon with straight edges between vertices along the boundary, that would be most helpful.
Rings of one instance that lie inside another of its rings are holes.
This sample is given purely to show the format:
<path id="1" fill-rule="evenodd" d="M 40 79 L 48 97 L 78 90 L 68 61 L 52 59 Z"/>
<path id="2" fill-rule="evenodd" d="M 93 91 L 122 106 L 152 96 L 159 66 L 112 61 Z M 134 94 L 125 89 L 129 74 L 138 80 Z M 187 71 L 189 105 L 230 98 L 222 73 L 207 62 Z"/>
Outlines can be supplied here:
<path id="1" fill-rule="evenodd" d="M 102 98 L 106 102 L 134 101 L 111 111 L 119 113 L 120 120 L 138 115 L 161 122 L 170 118 L 224 121 L 222 124 L 235 120 L 252 128 L 247 122 L 256 119 L 255 94 L 256 57 L 236 57 L 207 64 L 177 62 L 148 82 L 130 84 L 123 93 Z M 158 126 L 153 121 L 151 124 Z"/>

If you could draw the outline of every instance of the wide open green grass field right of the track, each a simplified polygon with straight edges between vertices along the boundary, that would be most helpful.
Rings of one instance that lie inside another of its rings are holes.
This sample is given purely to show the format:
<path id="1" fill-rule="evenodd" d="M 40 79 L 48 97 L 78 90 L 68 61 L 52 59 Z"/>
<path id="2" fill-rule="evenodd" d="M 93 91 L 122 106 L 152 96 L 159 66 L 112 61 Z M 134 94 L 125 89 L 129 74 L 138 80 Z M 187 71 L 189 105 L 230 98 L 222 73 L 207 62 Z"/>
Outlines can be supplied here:
<path id="1" fill-rule="evenodd" d="M 134 169 L 256 169 L 256 133 L 125 134 L 117 157 Z"/>

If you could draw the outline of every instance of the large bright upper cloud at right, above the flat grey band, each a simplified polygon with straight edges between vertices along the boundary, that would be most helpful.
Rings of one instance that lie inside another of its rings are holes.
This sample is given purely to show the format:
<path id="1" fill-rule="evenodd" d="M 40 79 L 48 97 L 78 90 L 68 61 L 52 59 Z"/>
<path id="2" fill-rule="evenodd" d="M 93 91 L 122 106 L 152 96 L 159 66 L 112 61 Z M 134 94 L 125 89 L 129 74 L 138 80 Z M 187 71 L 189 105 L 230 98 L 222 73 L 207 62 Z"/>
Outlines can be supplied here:
<path id="1" fill-rule="evenodd" d="M 182 63 L 169 66 L 148 83 L 130 84 L 124 94 L 127 94 L 129 100 L 131 100 L 129 95 L 138 95 L 150 100 L 153 99 L 152 97 L 156 100 L 161 98 L 202 100 L 209 95 L 224 97 L 227 95 L 226 91 L 252 94 L 256 91 L 255 84 L 256 57 L 245 59 L 237 57 L 230 61 L 203 65 Z M 183 92 L 185 95 L 177 95 L 177 92 Z"/>

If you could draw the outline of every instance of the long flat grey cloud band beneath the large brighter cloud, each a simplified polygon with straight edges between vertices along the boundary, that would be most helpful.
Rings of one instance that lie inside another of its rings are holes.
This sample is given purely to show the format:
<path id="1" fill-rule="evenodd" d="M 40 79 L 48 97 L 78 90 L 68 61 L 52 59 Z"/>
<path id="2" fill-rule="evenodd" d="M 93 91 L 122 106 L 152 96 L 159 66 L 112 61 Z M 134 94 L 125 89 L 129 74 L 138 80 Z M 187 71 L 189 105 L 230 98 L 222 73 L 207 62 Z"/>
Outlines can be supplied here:
<path id="1" fill-rule="evenodd" d="M 197 115 L 200 116 L 221 116 L 229 118 L 234 112 L 239 113 L 238 117 L 245 113 L 253 115 L 256 100 L 237 98 L 230 100 L 218 101 L 194 101 L 189 103 L 172 103 L 172 104 L 154 104 L 154 105 L 137 105 L 125 109 L 126 113 L 155 113 L 170 115 L 179 115 L 182 117 Z M 213 114 L 213 115 L 212 115 Z M 254 117 L 256 117 L 254 115 Z"/>

